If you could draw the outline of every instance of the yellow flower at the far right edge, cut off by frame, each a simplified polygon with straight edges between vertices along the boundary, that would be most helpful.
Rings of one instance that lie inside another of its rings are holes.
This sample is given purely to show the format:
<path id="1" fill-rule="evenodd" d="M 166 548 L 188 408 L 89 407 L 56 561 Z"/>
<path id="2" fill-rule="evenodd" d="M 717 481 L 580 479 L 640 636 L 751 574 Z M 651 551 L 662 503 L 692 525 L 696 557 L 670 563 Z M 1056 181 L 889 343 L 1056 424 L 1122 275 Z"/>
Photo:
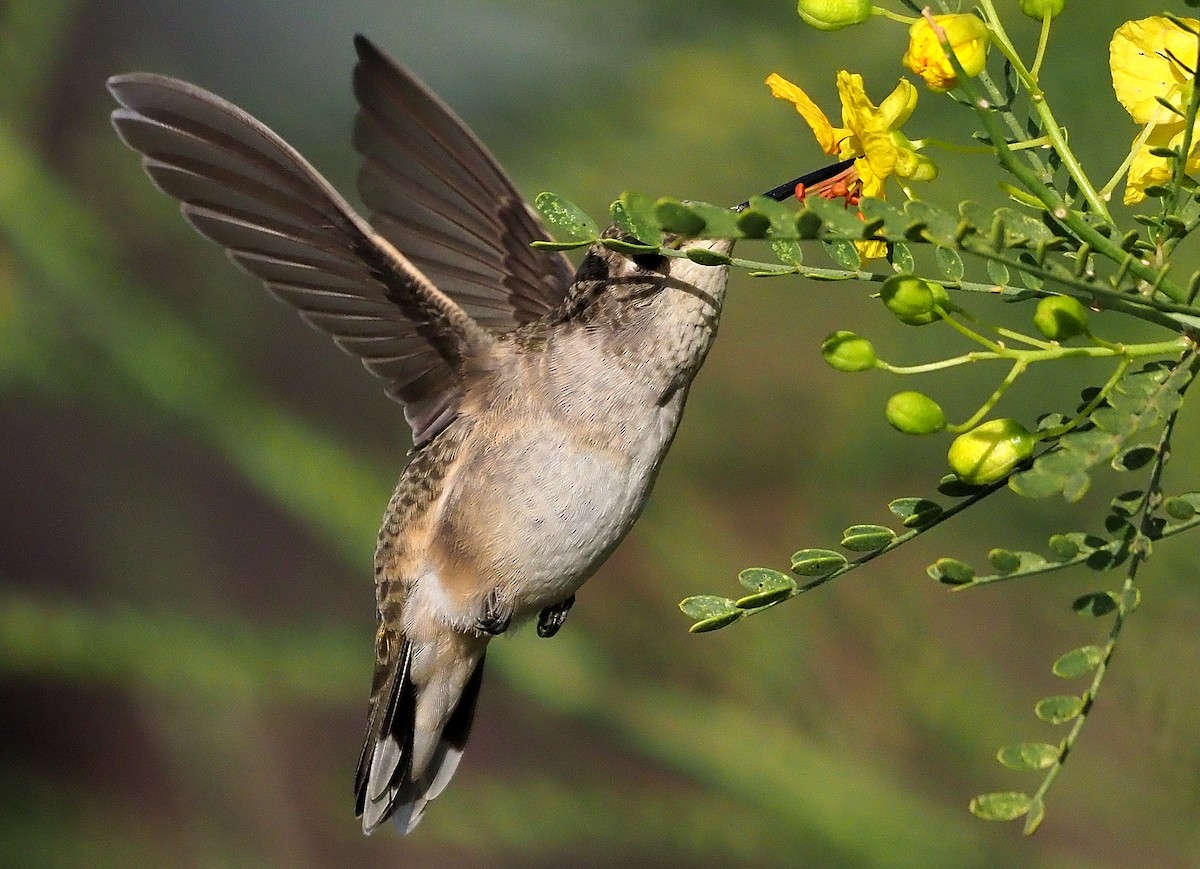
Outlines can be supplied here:
<path id="1" fill-rule="evenodd" d="M 1200 22 L 1184 18 L 1192 28 Z M 1162 106 L 1183 112 L 1192 98 L 1192 76 L 1196 65 L 1196 37 L 1162 17 L 1126 22 L 1117 28 L 1109 46 L 1112 90 L 1134 122 L 1147 130 L 1138 137 L 1140 145 L 1129 164 L 1124 202 L 1132 205 L 1146 198 L 1146 187 L 1171 180 L 1174 167 L 1166 157 L 1150 152 L 1152 148 L 1182 148 L 1186 122 Z M 1187 172 L 1200 170 L 1200 125 L 1193 130 Z"/>

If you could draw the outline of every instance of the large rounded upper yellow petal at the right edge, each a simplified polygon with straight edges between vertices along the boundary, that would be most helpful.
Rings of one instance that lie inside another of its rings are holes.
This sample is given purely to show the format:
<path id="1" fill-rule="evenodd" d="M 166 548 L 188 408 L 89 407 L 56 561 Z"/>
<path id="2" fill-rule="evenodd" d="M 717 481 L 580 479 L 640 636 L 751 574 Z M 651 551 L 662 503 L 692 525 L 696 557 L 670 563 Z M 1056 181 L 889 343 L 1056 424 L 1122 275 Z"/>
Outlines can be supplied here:
<path id="1" fill-rule="evenodd" d="M 1190 26 L 1200 26 L 1193 18 L 1183 20 Z M 1172 55 L 1177 60 L 1172 60 Z M 1138 124 L 1172 116 L 1156 97 L 1183 109 L 1192 77 L 1181 64 L 1195 68 L 1196 37 L 1159 16 L 1126 22 L 1109 44 L 1112 89 Z"/>

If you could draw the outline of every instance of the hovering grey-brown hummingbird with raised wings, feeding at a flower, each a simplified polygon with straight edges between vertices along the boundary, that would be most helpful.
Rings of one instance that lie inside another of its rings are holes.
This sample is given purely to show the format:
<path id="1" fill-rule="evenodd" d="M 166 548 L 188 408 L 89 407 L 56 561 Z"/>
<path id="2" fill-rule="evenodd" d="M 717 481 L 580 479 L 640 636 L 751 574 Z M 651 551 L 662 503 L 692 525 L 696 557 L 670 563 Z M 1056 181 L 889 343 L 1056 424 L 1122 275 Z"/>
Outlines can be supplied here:
<path id="1" fill-rule="evenodd" d="M 578 269 L 474 133 L 354 40 L 360 216 L 246 112 L 152 73 L 108 79 L 121 139 L 184 217 L 379 377 L 412 427 L 376 556 L 355 811 L 402 832 L 454 775 L 488 642 L 575 593 L 625 537 L 720 320 L 727 268 L 590 247 Z M 769 191 L 844 178 L 847 163 Z M 605 230 L 619 236 L 617 228 Z M 670 238 L 728 253 L 732 241 Z"/>

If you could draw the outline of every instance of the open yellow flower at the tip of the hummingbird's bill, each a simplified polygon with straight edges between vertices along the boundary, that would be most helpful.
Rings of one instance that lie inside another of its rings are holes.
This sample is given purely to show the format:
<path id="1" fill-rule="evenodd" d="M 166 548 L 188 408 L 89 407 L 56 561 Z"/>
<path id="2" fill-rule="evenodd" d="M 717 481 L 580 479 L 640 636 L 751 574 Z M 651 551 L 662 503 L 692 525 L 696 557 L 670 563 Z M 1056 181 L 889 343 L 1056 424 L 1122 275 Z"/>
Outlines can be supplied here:
<path id="1" fill-rule="evenodd" d="M 780 100 L 796 107 L 812 128 L 817 144 L 826 154 L 841 160 L 854 157 L 854 169 L 860 180 L 860 196 L 884 198 L 884 184 L 892 175 L 928 181 L 937 175 L 937 167 L 917 154 L 912 143 L 900 132 L 917 106 L 917 89 L 911 82 L 900 83 L 878 106 L 866 96 L 863 77 L 840 70 L 838 95 L 841 97 L 841 122 L 835 127 L 809 95 L 779 73 L 767 77 L 767 86 Z M 860 241 L 864 257 L 882 257 L 882 241 Z"/>

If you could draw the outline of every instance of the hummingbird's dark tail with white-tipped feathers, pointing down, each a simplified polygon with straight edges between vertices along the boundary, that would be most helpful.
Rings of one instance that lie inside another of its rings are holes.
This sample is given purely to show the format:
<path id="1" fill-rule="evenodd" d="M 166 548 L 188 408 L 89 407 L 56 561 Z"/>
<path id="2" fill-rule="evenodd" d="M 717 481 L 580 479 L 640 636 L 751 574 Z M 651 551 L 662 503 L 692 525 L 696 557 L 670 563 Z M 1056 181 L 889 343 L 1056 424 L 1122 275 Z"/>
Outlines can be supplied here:
<path id="1" fill-rule="evenodd" d="M 377 672 L 366 744 L 354 781 L 362 832 L 392 819 L 412 832 L 454 775 L 475 717 L 486 641 L 414 646 Z M 380 678 L 382 677 L 382 678 Z"/>

